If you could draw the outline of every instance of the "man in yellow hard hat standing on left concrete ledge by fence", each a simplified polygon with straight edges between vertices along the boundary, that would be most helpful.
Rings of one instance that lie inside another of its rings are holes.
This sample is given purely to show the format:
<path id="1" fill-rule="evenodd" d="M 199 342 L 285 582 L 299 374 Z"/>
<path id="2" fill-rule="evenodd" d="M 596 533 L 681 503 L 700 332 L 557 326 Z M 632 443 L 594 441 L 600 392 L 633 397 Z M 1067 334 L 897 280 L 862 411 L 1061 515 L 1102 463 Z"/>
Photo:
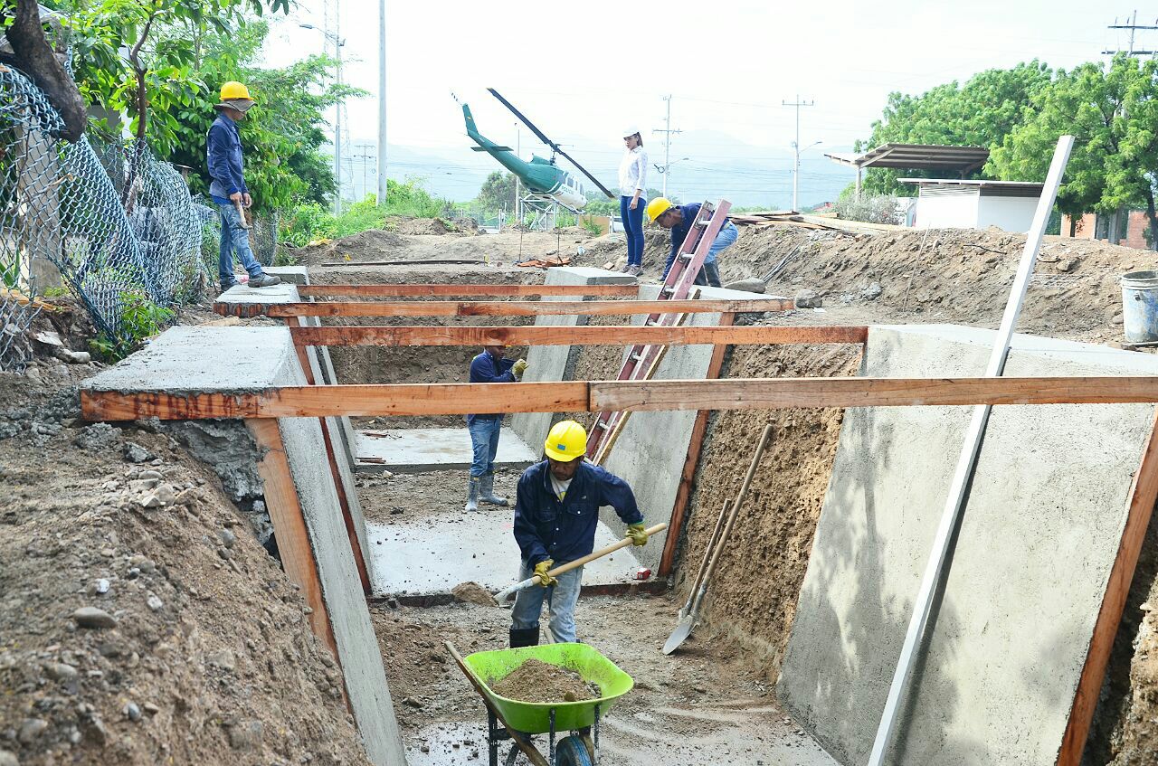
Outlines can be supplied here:
<path id="1" fill-rule="evenodd" d="M 244 84 L 230 80 L 221 86 L 221 101 L 213 106 L 218 111 L 218 118 L 210 126 L 205 145 L 206 164 L 213 178 L 210 183 L 210 197 L 217 204 L 221 218 L 218 277 L 221 280 L 222 293 L 239 283 L 233 273 L 234 251 L 249 274 L 249 287 L 281 283 L 280 278 L 266 274 L 254 257 L 254 251 L 249 246 L 249 227 L 242 213 L 243 207 L 254 204 L 254 198 L 249 196 L 243 176 L 244 163 L 237 123 L 245 119 L 245 112 L 252 105 L 254 98 Z"/>

